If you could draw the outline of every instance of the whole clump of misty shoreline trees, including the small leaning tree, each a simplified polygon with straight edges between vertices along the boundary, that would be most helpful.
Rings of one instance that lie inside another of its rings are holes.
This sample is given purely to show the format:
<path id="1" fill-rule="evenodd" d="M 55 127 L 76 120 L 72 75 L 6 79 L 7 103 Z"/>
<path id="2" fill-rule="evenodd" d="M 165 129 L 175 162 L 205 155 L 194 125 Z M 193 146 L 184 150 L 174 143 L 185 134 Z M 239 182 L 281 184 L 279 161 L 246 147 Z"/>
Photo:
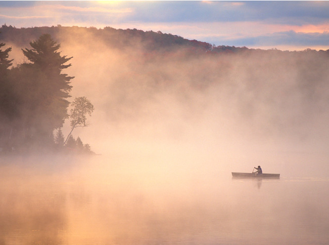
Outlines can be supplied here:
<path id="1" fill-rule="evenodd" d="M 22 49 L 27 61 L 12 67 L 11 47 L 2 49 L 5 43 L 0 43 L 0 152 L 91 152 L 72 135 L 74 128 L 88 125 L 86 115 L 94 111 L 86 97 L 68 101 L 74 77 L 62 71 L 72 57 L 61 55 L 60 44 L 49 34 L 30 45 Z M 66 119 L 71 132 L 65 139 L 61 128 Z"/>

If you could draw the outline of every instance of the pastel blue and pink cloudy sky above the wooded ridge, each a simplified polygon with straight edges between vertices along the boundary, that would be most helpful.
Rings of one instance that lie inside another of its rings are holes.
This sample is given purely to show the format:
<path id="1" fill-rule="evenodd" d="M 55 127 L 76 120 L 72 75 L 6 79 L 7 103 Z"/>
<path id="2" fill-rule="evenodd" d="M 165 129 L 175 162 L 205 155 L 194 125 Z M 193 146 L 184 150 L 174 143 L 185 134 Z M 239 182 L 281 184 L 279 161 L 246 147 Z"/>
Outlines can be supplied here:
<path id="1" fill-rule="evenodd" d="M 161 31 L 217 45 L 329 49 L 329 1 L 1 1 L 0 24 Z"/>

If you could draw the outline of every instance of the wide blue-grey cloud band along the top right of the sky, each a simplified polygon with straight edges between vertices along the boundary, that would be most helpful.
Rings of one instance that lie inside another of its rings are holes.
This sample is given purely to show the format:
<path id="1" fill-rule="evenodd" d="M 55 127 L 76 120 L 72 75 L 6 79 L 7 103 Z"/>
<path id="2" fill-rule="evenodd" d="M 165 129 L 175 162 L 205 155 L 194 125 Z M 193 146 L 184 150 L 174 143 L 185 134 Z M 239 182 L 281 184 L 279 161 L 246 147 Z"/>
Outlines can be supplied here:
<path id="1" fill-rule="evenodd" d="M 136 13 L 131 17 L 140 22 L 267 21 L 304 25 L 327 22 L 329 12 L 326 1 L 137 1 L 132 4 Z"/>

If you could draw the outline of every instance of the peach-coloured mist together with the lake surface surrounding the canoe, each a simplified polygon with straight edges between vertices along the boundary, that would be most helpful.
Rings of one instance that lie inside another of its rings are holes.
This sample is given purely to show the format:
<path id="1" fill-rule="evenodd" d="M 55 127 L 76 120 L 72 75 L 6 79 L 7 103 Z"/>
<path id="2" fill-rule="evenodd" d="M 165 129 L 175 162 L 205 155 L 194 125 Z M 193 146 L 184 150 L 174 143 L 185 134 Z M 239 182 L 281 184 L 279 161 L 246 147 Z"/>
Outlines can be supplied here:
<path id="1" fill-rule="evenodd" d="M 101 155 L 1 159 L 0 244 L 328 243 L 328 58 L 60 43 Z"/>

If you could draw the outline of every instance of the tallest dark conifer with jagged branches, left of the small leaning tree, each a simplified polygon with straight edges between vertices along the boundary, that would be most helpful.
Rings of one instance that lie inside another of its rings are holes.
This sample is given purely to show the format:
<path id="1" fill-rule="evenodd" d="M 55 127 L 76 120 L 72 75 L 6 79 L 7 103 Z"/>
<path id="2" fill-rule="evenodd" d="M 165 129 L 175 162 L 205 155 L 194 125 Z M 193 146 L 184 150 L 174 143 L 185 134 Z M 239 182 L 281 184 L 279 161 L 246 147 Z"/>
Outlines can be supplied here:
<path id="1" fill-rule="evenodd" d="M 67 107 L 72 86 L 67 74 L 62 70 L 71 66 L 65 65 L 72 57 L 61 56 L 57 50 L 60 44 L 52 40 L 49 34 L 30 42 L 32 49 L 22 49 L 30 63 L 19 66 L 18 77 L 25 87 L 21 94 L 25 102 L 22 114 L 25 115 L 24 134 L 34 141 L 49 141 L 52 131 L 63 126 L 68 118 Z"/>

